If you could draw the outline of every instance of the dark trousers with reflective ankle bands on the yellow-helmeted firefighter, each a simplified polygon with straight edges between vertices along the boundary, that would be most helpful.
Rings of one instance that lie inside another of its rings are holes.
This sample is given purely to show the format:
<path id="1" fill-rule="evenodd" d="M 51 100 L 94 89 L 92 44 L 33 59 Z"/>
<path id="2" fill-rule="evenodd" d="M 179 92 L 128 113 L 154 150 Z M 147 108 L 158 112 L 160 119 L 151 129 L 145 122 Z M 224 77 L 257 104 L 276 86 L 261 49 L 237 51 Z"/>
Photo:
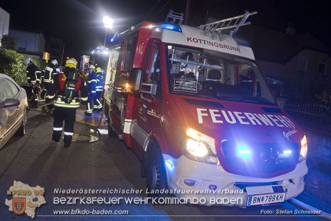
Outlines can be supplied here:
<path id="1" fill-rule="evenodd" d="M 76 120 L 76 108 L 55 107 L 53 112 L 53 140 L 59 142 L 62 133 L 62 125 L 64 120 L 64 145 L 71 144 L 72 135 L 74 135 L 74 123 Z"/>

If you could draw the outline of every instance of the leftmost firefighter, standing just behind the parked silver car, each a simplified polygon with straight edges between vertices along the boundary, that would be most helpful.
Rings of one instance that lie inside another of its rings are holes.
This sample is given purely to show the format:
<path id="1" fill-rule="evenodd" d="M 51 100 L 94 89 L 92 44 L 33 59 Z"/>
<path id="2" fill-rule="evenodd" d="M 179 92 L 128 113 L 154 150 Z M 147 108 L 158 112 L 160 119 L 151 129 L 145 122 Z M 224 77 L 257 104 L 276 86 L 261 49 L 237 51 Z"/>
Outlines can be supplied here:
<path id="1" fill-rule="evenodd" d="M 32 108 L 38 108 L 38 95 L 39 95 L 39 87 L 41 82 L 41 71 L 37 65 L 33 63 L 31 58 L 26 57 L 23 60 L 23 63 L 26 67 L 26 78 L 29 86 L 32 87 L 34 98 L 32 101 Z"/>

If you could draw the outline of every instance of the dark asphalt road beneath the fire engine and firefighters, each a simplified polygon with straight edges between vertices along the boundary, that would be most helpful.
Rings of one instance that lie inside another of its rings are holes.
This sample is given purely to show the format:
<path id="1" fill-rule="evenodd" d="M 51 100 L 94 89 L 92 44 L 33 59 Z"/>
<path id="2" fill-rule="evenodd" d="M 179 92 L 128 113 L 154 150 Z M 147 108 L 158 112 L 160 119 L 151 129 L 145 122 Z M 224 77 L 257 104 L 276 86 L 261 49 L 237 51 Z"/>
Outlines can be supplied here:
<path id="1" fill-rule="evenodd" d="M 82 111 L 81 111 L 82 112 Z M 89 119 L 86 119 L 89 121 Z M 16 215 L 8 211 L 4 204 L 6 190 L 13 181 L 41 186 L 45 189 L 46 204 L 36 208 L 34 220 L 323 220 L 316 216 L 300 217 L 288 215 L 280 217 L 276 211 L 294 211 L 301 209 L 285 202 L 282 205 L 255 208 L 236 208 L 198 205 L 54 205 L 53 197 L 70 197 L 86 195 L 55 194 L 55 188 L 63 189 L 145 189 L 145 179 L 140 177 L 140 161 L 131 149 L 125 147 L 117 138 L 98 135 L 100 139 L 92 143 L 72 143 L 64 147 L 63 141 L 56 144 L 51 140 L 53 118 L 41 112 L 28 113 L 27 133 L 24 137 L 13 137 L 0 150 L 0 220 L 31 220 L 30 217 Z M 107 125 L 102 124 L 106 129 Z M 75 133 L 89 135 L 91 128 L 76 123 Z M 314 164 L 314 162 L 312 162 Z M 314 164 L 318 167 L 317 164 Z M 310 173 L 313 173 L 310 170 Z M 315 173 L 314 173 L 315 174 Z M 330 175 L 326 175 L 329 176 Z M 313 175 L 314 179 L 318 178 Z M 307 179 L 307 178 L 306 178 Z M 313 185 L 313 184 L 312 184 Z M 310 188 L 314 188 L 310 185 Z M 326 185 L 326 184 L 324 184 Z M 329 183 L 330 185 L 330 183 Z M 309 186 L 309 185 L 308 185 Z M 314 185 L 313 185 L 314 186 Z M 316 189 L 316 188 L 315 188 Z M 322 189 L 322 187 L 321 187 Z M 315 190 L 318 193 L 318 191 Z M 329 191 L 328 191 L 329 193 Z M 314 196 L 314 191 L 304 191 L 297 199 L 318 209 L 331 213 L 331 205 L 323 197 Z M 330 193 L 329 193 L 330 194 Z M 102 196 L 104 195 L 93 195 Z M 108 195 L 109 196 L 109 195 Z M 111 197 L 123 197 L 114 194 Z M 125 197 L 147 197 L 146 194 L 126 194 Z M 53 217 L 55 210 L 127 210 L 128 216 L 117 217 Z M 273 214 L 261 214 L 261 209 Z M 273 215 L 273 216 L 270 216 Z M 51 216 L 51 217 L 49 217 Z M 235 217 L 234 217 L 235 216 Z"/>

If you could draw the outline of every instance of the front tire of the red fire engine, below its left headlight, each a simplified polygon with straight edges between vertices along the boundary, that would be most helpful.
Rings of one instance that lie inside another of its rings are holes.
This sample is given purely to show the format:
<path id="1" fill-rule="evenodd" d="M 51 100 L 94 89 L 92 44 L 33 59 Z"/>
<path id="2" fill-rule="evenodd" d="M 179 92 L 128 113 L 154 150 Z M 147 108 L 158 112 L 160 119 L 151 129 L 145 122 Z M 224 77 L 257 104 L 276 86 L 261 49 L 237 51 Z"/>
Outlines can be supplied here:
<path id="1" fill-rule="evenodd" d="M 146 188 L 152 190 L 168 189 L 167 176 L 163 157 L 158 147 L 151 147 L 148 153 L 146 169 Z M 148 194 L 150 197 L 165 197 L 166 194 Z"/>

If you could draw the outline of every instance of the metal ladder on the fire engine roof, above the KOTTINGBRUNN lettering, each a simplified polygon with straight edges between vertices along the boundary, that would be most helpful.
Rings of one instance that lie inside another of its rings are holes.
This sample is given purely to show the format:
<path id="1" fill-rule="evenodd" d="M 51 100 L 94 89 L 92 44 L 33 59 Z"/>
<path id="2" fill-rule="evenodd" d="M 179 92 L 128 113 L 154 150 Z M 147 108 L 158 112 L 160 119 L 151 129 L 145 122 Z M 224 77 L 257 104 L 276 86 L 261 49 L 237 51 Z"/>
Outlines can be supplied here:
<path id="1" fill-rule="evenodd" d="M 217 32 L 219 34 L 221 34 L 222 30 L 233 28 L 234 30 L 230 31 L 230 36 L 232 37 L 232 35 L 239 29 L 240 26 L 250 24 L 250 22 L 249 21 L 246 22 L 246 20 L 249 15 L 253 15 L 253 14 L 257 14 L 257 11 L 254 11 L 254 12 L 245 11 L 245 13 L 242 15 L 226 18 L 226 19 L 223 19 L 220 21 L 215 21 L 215 22 L 208 23 L 208 24 L 203 24 L 203 25 L 200 25 L 199 28 L 201 30 L 208 30 L 208 31 L 211 31 L 212 33 Z M 232 21 L 234 21 L 234 23 Z"/>

